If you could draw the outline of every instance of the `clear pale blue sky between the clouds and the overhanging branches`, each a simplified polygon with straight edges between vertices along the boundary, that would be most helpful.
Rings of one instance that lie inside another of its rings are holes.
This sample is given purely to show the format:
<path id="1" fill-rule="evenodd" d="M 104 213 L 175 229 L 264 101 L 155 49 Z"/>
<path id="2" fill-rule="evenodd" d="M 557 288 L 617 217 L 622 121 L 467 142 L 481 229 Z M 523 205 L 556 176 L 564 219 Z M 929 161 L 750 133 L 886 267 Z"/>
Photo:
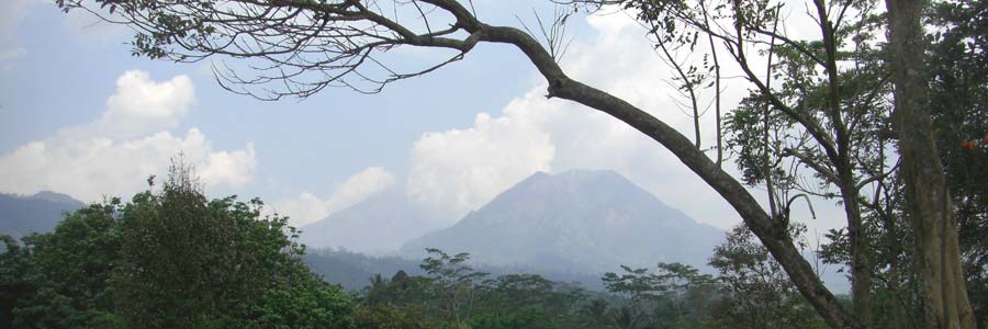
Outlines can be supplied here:
<path id="1" fill-rule="evenodd" d="M 115 81 L 126 71 L 146 72 L 158 82 L 184 76 L 194 89 L 194 103 L 166 131 L 182 135 L 198 128 L 217 151 L 243 149 L 247 143 L 255 149 L 257 164 L 250 182 L 216 184 L 210 186 L 213 194 L 266 200 L 299 191 L 327 195 L 349 175 L 374 166 L 404 175 L 409 146 L 423 133 L 470 126 L 479 112 L 497 111 L 534 79 L 518 54 L 482 46 L 471 60 L 395 83 L 380 94 L 330 89 L 304 101 L 262 102 L 222 90 L 209 64 L 176 65 L 131 56 L 124 44 L 130 34 L 119 26 L 82 14 L 67 16 L 43 1 L 2 5 L 9 7 L 4 11 L 10 16 L 0 26 L 7 44 L 0 50 L 7 54 L 0 56 L 0 152 L 93 122 L 105 111 L 108 98 L 117 89 Z M 471 77 L 470 84 L 460 77 Z M 450 86 L 458 88 L 450 90 Z M 32 185 L 5 192 L 31 193 L 38 184 Z M 58 185 L 44 188 L 58 190 Z"/>

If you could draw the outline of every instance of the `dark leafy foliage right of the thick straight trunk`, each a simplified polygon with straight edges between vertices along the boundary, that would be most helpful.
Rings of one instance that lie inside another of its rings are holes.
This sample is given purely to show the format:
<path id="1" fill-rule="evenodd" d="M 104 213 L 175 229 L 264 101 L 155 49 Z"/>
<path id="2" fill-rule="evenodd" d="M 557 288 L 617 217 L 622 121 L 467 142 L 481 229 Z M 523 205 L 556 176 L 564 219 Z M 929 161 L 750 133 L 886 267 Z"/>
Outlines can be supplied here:
<path id="1" fill-rule="evenodd" d="M 988 326 L 988 2 L 938 1 L 928 57 L 936 148 L 959 227 L 968 296 Z"/>

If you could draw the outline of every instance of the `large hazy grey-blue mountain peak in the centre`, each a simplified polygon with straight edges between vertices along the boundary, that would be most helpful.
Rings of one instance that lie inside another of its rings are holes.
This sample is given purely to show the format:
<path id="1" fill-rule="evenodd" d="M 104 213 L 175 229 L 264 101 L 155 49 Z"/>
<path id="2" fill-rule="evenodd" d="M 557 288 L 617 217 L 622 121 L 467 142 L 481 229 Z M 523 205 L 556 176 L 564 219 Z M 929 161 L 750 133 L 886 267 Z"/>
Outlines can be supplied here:
<path id="1" fill-rule="evenodd" d="M 723 231 L 698 224 L 613 171 L 536 173 L 452 227 L 405 245 L 470 252 L 478 263 L 550 273 L 682 262 L 706 268 Z"/>

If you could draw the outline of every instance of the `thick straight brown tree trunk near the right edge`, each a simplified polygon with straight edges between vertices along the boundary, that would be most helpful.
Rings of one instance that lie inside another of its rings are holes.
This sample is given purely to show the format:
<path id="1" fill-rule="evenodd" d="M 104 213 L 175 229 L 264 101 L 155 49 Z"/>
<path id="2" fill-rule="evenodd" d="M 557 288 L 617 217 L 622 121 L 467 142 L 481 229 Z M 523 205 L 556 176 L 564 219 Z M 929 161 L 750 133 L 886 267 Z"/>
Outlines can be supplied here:
<path id="1" fill-rule="evenodd" d="M 887 0 L 902 178 L 917 246 L 927 328 L 975 329 L 961 272 L 957 223 L 927 111 L 922 0 Z"/>

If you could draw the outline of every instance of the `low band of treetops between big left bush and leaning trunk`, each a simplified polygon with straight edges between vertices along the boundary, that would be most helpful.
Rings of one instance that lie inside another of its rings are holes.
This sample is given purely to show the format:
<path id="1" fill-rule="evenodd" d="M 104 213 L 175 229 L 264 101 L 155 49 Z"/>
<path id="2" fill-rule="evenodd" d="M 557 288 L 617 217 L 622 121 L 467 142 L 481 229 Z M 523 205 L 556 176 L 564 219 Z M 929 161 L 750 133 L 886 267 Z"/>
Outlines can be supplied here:
<path id="1" fill-rule="evenodd" d="M 355 321 L 361 329 L 824 327 L 749 230 L 732 231 L 718 251 L 719 276 L 678 263 L 622 266 L 604 275 L 604 294 L 535 274 L 485 279 L 469 254 L 429 249 L 424 276 L 370 277 Z"/>

